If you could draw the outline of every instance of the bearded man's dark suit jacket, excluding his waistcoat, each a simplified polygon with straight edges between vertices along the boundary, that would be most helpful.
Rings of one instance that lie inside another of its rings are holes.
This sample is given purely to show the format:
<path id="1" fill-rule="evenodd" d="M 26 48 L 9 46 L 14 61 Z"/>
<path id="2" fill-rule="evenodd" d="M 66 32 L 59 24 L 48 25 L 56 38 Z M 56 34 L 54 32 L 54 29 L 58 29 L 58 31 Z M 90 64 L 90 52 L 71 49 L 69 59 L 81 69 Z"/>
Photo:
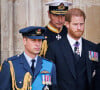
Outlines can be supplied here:
<path id="1" fill-rule="evenodd" d="M 88 51 L 95 51 L 95 44 L 82 39 L 81 59 L 86 60 L 87 78 L 90 87 L 95 65 L 89 59 Z M 56 64 L 59 90 L 76 90 L 76 72 L 73 62 L 75 57 L 68 39 L 63 38 L 51 43 L 48 47 L 46 58 L 53 60 Z"/>

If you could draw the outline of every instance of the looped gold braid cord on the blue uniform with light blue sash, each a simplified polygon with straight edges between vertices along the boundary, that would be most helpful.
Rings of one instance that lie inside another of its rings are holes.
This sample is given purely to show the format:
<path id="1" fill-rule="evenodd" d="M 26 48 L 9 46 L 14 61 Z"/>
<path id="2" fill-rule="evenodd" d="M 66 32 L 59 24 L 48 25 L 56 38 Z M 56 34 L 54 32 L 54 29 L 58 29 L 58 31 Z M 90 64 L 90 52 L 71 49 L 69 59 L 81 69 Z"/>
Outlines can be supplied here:
<path id="1" fill-rule="evenodd" d="M 23 81 L 23 87 L 18 88 L 16 85 L 16 80 L 15 80 L 15 72 L 13 68 L 13 64 L 11 61 L 8 61 L 10 64 L 10 72 L 11 72 L 11 77 L 12 77 L 12 90 L 31 90 L 31 81 L 32 81 L 32 76 L 29 72 L 27 72 L 24 76 L 24 81 Z"/>

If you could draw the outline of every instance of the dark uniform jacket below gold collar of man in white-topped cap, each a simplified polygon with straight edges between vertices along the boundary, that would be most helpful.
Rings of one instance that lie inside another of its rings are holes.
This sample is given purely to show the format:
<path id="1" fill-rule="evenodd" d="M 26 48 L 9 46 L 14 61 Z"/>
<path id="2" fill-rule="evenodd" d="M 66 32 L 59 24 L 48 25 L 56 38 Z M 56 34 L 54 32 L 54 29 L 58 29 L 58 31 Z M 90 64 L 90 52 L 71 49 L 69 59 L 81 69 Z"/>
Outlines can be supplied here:
<path id="1" fill-rule="evenodd" d="M 61 38 L 66 37 L 67 34 L 67 28 L 65 26 L 63 26 L 62 31 L 59 33 L 59 35 L 61 36 Z M 46 26 L 46 32 L 45 32 L 45 36 L 47 36 L 47 42 L 48 44 L 57 40 L 57 36 L 58 33 L 55 33 L 53 31 L 51 31 L 47 26 Z M 58 39 L 61 39 L 60 37 L 58 37 Z"/>

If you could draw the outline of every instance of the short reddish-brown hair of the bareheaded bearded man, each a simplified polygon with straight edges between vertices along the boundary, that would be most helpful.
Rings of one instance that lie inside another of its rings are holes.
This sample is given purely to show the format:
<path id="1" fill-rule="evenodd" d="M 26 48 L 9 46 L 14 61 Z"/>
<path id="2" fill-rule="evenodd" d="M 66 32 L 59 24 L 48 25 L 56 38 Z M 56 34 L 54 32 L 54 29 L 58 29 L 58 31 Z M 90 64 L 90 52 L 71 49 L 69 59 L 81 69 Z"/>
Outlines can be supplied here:
<path id="1" fill-rule="evenodd" d="M 69 9 L 68 12 L 67 12 L 67 14 L 65 15 L 65 20 L 68 21 L 68 22 L 71 22 L 72 16 L 83 16 L 84 21 L 86 19 L 84 11 L 82 11 L 79 8 Z"/>

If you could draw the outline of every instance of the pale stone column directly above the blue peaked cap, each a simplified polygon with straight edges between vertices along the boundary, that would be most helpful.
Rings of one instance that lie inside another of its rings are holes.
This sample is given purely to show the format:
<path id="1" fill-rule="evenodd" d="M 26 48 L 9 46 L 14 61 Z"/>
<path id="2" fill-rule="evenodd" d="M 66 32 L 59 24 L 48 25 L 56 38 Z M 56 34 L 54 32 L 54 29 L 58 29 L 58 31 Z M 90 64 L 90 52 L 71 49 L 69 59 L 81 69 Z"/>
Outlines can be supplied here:
<path id="1" fill-rule="evenodd" d="M 28 25 L 41 26 L 42 25 L 42 1 L 43 0 L 29 0 L 28 14 L 29 22 Z"/>

